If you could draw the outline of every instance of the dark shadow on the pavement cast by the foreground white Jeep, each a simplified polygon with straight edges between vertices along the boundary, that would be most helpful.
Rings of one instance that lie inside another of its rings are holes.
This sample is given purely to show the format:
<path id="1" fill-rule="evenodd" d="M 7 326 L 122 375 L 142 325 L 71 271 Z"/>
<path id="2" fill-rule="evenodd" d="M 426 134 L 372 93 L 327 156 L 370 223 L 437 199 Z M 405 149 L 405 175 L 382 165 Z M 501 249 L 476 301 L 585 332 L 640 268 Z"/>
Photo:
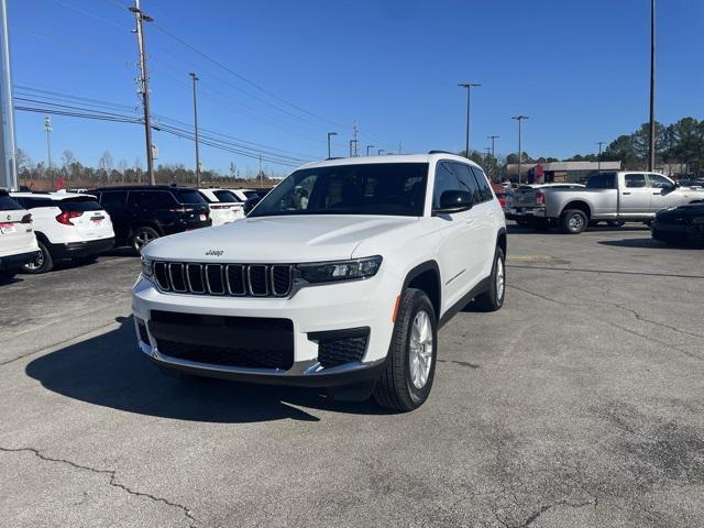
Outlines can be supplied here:
<path id="1" fill-rule="evenodd" d="M 116 330 L 34 360 L 26 366 L 26 374 L 70 398 L 180 420 L 243 424 L 320 419 L 293 405 L 336 413 L 387 414 L 373 403 L 333 402 L 316 389 L 165 376 L 136 348 L 132 318 L 119 318 L 118 322 L 121 326 Z"/>

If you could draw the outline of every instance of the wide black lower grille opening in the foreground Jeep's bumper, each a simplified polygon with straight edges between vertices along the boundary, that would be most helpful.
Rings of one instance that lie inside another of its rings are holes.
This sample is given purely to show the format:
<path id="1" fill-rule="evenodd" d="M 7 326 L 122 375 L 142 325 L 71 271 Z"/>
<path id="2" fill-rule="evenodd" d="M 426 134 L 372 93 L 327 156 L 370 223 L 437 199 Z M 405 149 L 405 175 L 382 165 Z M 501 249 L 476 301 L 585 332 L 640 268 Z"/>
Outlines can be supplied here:
<path id="1" fill-rule="evenodd" d="M 154 310 L 150 331 L 160 353 L 179 360 L 284 371 L 294 365 L 289 319 Z"/>

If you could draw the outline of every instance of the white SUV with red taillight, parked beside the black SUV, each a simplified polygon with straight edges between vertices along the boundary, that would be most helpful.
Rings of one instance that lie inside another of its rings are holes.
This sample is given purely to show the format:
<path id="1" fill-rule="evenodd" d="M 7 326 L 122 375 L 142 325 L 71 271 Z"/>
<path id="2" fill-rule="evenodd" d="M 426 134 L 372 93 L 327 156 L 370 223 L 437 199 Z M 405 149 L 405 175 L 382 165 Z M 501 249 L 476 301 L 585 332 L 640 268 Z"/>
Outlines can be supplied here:
<path id="1" fill-rule="evenodd" d="M 12 193 L 32 211 L 40 252 L 22 266 L 24 273 L 46 273 L 62 261 L 92 261 L 114 245 L 108 215 L 96 197 L 76 193 Z"/>

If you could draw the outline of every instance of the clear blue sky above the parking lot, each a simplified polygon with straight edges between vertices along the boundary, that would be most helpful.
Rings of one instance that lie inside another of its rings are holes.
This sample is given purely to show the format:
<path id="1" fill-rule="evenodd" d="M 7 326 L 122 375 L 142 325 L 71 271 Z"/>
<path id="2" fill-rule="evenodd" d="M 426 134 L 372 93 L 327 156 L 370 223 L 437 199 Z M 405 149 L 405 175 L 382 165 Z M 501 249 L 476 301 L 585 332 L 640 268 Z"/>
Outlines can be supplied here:
<path id="1" fill-rule="evenodd" d="M 15 85 L 138 105 L 134 22 L 127 0 L 9 0 Z M 352 121 L 385 150 L 459 151 L 464 92 L 473 91 L 472 147 L 566 157 L 629 133 L 648 119 L 648 0 L 143 0 L 155 24 L 266 91 L 146 26 L 154 113 L 191 122 L 188 72 L 199 84 L 201 127 L 271 145 L 290 156 L 326 156 L 326 132 L 348 151 Z M 670 123 L 704 114 L 704 2 L 668 0 L 658 9 L 657 117 Z M 272 97 L 273 94 L 280 99 Z M 311 112 L 301 113 L 288 102 Z M 322 119 L 319 119 L 322 118 Z M 46 157 L 42 114 L 18 112 L 18 144 Z M 97 165 L 140 157 L 135 124 L 54 117 L 53 158 L 69 148 Z M 161 163 L 194 164 L 193 143 L 155 133 Z M 244 172 L 257 162 L 204 146 L 206 167 Z M 265 167 L 285 172 L 286 167 Z"/>

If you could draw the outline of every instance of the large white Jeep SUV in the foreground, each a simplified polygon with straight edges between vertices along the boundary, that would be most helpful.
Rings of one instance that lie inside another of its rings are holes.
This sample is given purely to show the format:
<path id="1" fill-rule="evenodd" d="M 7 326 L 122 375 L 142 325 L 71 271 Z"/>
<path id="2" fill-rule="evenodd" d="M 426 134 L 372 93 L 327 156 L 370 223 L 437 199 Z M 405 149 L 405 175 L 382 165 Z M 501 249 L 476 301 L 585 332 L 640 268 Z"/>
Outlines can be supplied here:
<path id="1" fill-rule="evenodd" d="M 305 165 L 248 218 L 142 255 L 135 330 L 163 367 L 410 410 L 438 328 L 472 299 L 502 307 L 506 228 L 463 157 L 355 157 Z"/>

